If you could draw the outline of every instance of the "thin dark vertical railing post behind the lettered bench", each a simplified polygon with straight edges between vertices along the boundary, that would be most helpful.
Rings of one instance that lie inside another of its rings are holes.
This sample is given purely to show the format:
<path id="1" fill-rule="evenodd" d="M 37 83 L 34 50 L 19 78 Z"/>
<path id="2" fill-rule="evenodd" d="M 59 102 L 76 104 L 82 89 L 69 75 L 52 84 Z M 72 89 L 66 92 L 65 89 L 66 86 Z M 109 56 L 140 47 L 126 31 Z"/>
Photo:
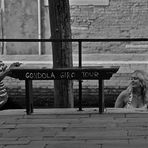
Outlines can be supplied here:
<path id="1" fill-rule="evenodd" d="M 79 68 L 82 68 L 82 41 L 79 40 Z M 79 80 L 79 111 L 82 111 L 82 80 Z"/>

